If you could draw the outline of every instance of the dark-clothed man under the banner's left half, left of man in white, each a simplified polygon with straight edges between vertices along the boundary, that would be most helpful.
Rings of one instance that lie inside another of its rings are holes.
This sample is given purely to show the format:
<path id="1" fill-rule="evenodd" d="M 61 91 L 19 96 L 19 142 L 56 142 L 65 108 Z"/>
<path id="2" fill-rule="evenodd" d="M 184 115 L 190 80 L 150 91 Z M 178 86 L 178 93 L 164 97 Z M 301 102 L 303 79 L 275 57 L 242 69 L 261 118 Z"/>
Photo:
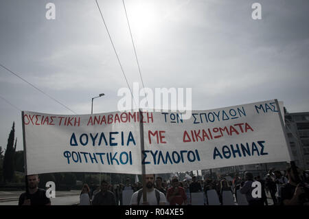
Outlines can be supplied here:
<path id="1" fill-rule="evenodd" d="M 92 205 L 116 205 L 116 198 L 113 192 L 108 191 L 108 183 L 101 182 L 101 191 L 95 194 Z"/>

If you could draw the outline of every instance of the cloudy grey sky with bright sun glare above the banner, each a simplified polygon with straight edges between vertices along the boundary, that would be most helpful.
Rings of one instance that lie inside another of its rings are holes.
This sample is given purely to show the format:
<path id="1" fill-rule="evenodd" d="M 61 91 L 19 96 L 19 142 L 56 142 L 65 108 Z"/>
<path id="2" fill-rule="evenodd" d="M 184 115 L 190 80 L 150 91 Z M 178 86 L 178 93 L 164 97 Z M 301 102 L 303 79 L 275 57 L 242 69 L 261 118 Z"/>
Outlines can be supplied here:
<path id="1" fill-rule="evenodd" d="M 47 20 L 45 6 L 56 5 Z M 253 20 L 255 2 L 262 19 Z M 141 79 L 122 0 L 98 0 L 130 87 Z M 277 98 L 309 111 L 309 1 L 126 0 L 145 87 L 192 88 L 196 110 Z M 1 0 L 0 64 L 78 114 L 117 111 L 127 87 L 95 0 Z M 12 106 L 13 105 L 13 106 Z M 0 67 L 0 146 L 21 111 L 72 114 Z"/>

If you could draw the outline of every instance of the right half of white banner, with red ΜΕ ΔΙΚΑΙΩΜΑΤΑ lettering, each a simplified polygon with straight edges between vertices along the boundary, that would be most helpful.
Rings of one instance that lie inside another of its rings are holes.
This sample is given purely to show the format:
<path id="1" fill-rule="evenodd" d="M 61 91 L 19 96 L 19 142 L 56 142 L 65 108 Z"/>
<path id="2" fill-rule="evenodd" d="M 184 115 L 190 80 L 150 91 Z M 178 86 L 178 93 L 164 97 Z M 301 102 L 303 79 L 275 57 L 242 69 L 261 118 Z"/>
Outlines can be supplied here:
<path id="1" fill-rule="evenodd" d="M 153 113 L 144 142 L 142 163 L 154 174 L 291 160 L 275 100 L 192 111 L 190 119 Z"/>

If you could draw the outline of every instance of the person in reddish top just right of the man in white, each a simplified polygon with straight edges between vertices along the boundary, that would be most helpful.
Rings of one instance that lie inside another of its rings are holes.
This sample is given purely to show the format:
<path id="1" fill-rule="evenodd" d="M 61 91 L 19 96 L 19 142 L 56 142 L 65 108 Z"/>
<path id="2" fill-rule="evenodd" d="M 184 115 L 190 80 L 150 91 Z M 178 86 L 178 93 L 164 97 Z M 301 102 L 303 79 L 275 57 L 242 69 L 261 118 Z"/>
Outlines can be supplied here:
<path id="1" fill-rule="evenodd" d="M 168 189 L 166 198 L 168 198 L 170 205 L 187 205 L 187 195 L 185 189 L 179 186 L 178 178 L 172 179 L 172 187 Z"/>

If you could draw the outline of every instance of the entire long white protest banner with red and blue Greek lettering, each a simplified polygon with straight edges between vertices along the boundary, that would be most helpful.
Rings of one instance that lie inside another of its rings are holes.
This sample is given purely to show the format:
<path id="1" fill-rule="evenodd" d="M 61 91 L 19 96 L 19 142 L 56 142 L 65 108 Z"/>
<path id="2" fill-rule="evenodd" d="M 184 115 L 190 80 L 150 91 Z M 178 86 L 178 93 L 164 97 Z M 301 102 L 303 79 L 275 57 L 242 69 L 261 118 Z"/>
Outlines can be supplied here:
<path id="1" fill-rule="evenodd" d="M 146 173 L 159 174 L 290 161 L 274 100 L 192 111 L 190 119 L 172 112 L 142 115 L 23 112 L 27 174 L 142 174 L 143 164 Z M 143 151 L 139 122 L 144 126 Z"/>

